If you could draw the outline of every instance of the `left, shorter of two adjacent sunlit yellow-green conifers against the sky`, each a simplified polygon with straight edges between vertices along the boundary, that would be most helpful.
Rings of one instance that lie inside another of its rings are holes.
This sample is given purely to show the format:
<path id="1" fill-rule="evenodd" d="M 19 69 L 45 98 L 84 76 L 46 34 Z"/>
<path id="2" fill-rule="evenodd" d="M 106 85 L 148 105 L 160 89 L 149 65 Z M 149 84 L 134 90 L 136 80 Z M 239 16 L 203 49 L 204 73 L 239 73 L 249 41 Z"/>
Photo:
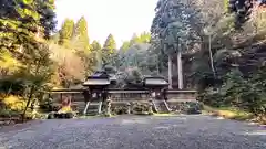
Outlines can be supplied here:
<path id="1" fill-rule="evenodd" d="M 74 31 L 74 21 L 71 19 L 65 19 L 62 28 L 60 30 L 60 40 L 59 44 L 65 45 L 70 43 Z"/>

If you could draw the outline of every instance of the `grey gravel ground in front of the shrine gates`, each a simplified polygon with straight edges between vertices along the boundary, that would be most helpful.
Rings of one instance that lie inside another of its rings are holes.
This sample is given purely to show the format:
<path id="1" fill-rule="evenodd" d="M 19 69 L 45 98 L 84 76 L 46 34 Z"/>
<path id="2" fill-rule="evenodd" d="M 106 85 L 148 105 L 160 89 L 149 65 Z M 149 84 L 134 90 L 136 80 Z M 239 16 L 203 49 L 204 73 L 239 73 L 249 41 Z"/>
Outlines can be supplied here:
<path id="1" fill-rule="evenodd" d="M 208 116 L 44 120 L 0 130 L 0 149 L 266 149 L 266 129 Z"/>

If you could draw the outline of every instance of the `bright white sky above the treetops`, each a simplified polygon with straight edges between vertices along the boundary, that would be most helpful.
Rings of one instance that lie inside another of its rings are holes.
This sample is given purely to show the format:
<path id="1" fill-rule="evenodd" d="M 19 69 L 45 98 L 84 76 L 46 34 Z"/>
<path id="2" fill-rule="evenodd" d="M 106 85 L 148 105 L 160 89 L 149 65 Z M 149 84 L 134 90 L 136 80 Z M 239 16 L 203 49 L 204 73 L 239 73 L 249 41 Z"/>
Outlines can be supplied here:
<path id="1" fill-rule="evenodd" d="M 133 33 L 150 31 L 157 0 L 55 0 L 58 29 L 65 18 L 88 21 L 90 42 L 112 33 L 117 46 Z"/>

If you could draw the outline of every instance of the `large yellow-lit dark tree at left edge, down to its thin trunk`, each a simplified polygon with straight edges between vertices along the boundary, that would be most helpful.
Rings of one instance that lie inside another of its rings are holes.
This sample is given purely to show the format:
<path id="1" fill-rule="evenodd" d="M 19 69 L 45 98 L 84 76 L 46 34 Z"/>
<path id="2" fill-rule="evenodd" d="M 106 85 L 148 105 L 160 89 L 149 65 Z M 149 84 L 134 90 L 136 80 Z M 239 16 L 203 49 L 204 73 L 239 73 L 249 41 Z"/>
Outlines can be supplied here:
<path id="1" fill-rule="evenodd" d="M 47 87 L 45 83 L 52 74 L 50 53 L 43 36 L 49 38 L 54 29 L 54 15 L 48 14 L 50 11 L 53 13 L 53 1 L 1 0 L 0 6 L 0 62 L 6 63 L 2 56 L 9 55 L 19 63 L 16 66 L 20 65 L 12 75 L 1 77 L 1 81 L 8 79 L 10 84 L 6 84 L 6 87 L 9 86 L 11 93 L 20 93 L 27 99 L 24 118 L 35 94 Z M 9 71 L 0 68 L 1 72 Z M 18 79 L 20 82 L 14 82 Z M 19 91 L 13 88 L 13 83 Z"/>

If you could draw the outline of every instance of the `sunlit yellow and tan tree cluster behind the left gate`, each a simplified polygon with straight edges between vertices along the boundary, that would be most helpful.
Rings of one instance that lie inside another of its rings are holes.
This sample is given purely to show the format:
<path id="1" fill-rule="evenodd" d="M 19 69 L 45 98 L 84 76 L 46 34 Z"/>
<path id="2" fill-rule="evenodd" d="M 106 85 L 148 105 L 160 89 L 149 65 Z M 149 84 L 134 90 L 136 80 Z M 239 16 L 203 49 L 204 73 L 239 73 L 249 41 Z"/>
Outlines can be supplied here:
<path id="1" fill-rule="evenodd" d="M 66 19 L 59 34 L 63 44 L 57 45 L 58 35 L 51 41 L 52 57 L 58 64 L 58 77 L 64 87 L 82 82 L 85 76 L 91 75 L 99 63 L 101 45 L 95 41 L 90 44 L 88 35 L 88 23 L 82 17 L 76 24 L 73 20 Z M 62 40 L 63 39 L 63 40 Z"/>

